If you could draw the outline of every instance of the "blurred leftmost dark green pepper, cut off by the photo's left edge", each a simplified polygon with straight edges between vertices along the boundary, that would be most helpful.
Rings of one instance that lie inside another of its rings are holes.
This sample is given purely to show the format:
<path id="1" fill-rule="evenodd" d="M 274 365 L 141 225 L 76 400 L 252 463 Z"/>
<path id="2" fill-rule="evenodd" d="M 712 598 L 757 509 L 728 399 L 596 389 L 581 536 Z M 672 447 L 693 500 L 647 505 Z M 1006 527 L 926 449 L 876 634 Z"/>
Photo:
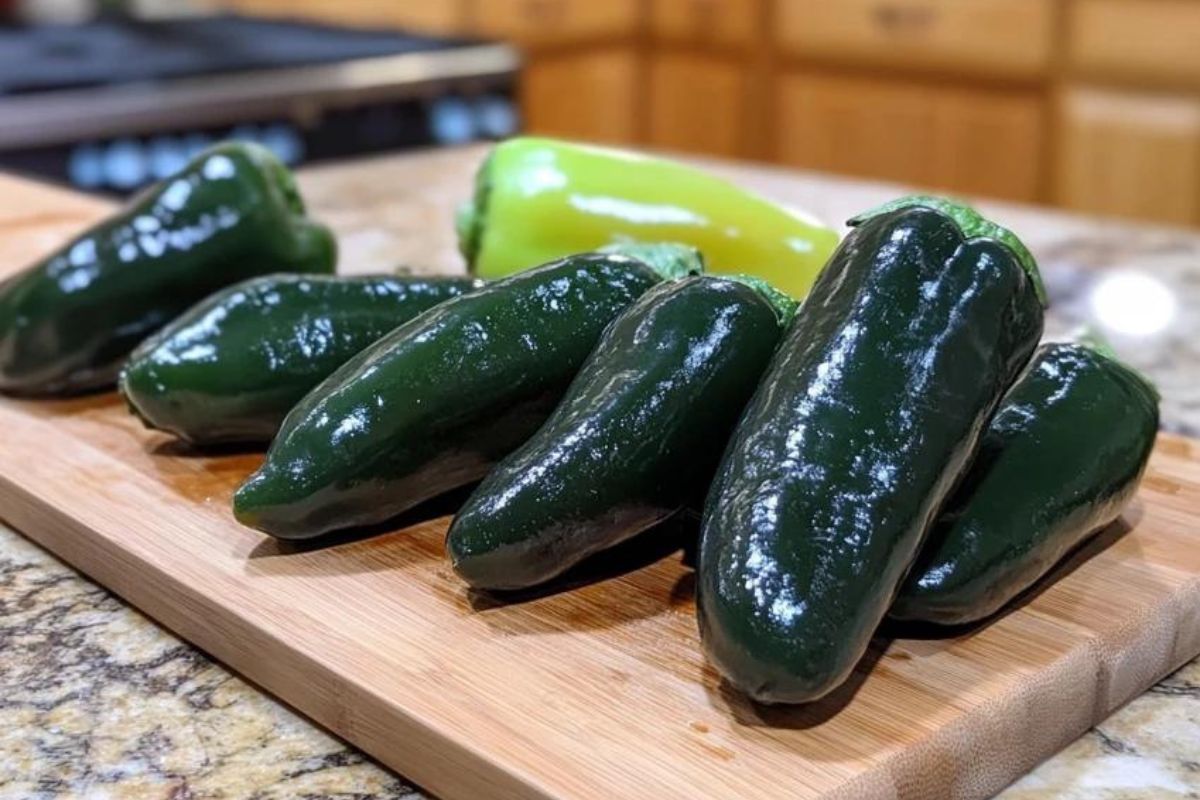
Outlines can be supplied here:
<path id="1" fill-rule="evenodd" d="M 0 284 L 0 390 L 108 387 L 142 339 L 216 289 L 335 260 L 270 151 L 217 145 Z"/>

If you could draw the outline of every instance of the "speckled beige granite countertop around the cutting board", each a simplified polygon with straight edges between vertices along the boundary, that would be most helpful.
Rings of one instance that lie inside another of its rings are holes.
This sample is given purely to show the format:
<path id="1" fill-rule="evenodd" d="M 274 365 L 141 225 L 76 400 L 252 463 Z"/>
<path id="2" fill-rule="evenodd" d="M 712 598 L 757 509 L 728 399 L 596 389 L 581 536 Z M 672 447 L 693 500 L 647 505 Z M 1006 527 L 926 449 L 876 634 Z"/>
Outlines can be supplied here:
<path id="1" fill-rule="evenodd" d="M 347 163 L 310 170 L 301 184 L 356 271 L 460 271 L 448 212 L 458 198 L 424 194 L 421 175 L 461 174 L 466 194 L 479 155 Z M 734 179 L 752 174 L 768 194 L 827 221 L 901 193 L 714 168 Z M 401 196 L 407 206 L 419 197 L 420 211 L 395 213 Z M 1200 233 L 983 205 L 1038 255 L 1051 297 L 1048 336 L 1098 327 L 1158 383 L 1164 428 L 1200 435 Z M 421 796 L 4 527 L 0 654 L 0 800 Z M 1200 798 L 1200 660 L 1001 796 Z"/>

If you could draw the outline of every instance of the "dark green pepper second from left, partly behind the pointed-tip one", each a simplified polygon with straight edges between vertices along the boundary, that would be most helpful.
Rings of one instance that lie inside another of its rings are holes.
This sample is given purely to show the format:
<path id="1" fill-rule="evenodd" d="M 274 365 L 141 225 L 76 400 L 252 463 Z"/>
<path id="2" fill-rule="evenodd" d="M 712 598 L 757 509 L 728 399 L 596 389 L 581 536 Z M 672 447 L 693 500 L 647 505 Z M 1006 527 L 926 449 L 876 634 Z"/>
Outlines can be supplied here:
<path id="1" fill-rule="evenodd" d="M 143 342 L 120 389 L 146 427 L 197 445 L 266 444 L 300 399 L 473 278 L 269 275 L 222 289 Z"/>

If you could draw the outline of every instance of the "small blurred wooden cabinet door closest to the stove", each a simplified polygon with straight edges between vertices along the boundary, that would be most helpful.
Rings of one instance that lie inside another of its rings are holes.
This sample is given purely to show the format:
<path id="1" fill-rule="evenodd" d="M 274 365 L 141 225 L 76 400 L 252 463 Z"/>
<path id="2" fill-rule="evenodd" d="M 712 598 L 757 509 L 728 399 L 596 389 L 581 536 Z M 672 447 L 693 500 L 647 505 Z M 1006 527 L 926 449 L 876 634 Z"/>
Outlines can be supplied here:
<path id="1" fill-rule="evenodd" d="M 635 67 L 629 47 L 532 56 L 521 74 L 524 130 L 593 142 L 632 142 Z"/>

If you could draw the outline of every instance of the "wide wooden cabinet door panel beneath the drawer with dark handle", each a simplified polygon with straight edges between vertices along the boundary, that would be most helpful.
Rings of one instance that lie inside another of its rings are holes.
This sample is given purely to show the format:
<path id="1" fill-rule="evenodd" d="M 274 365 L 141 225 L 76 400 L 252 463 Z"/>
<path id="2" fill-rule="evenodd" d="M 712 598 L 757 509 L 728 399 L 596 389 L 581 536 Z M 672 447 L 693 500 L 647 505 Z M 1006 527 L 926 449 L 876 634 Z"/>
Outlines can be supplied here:
<path id="1" fill-rule="evenodd" d="M 1043 103 L 956 90 L 792 74 L 778 96 L 781 161 L 1014 200 L 1038 198 Z"/>

